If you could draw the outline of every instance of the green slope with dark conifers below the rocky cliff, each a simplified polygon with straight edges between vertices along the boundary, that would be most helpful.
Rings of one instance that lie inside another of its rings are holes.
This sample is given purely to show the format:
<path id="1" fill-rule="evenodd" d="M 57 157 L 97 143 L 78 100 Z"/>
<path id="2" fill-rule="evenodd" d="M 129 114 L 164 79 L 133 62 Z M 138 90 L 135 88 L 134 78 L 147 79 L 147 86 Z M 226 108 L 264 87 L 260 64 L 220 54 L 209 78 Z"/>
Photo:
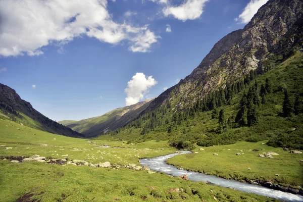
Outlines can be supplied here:
<path id="1" fill-rule="evenodd" d="M 303 149 L 303 53 L 287 59 L 271 56 L 266 61 L 243 80 L 221 86 L 191 106 L 181 108 L 180 97 L 175 97 L 97 139 L 168 139 L 173 146 L 178 142 L 212 146 L 269 140 L 271 146 Z M 219 121 L 220 111 L 226 124 Z"/>

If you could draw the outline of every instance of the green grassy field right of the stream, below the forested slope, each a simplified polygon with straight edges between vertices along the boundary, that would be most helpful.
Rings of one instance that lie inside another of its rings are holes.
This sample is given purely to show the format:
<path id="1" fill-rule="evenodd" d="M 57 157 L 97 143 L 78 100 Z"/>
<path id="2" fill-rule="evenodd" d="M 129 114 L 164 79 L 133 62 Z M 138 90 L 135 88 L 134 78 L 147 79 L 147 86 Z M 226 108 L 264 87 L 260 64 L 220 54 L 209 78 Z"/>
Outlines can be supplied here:
<path id="1" fill-rule="evenodd" d="M 169 159 L 168 163 L 226 179 L 261 180 L 303 186 L 303 163 L 299 162 L 303 155 L 290 154 L 280 147 L 267 146 L 265 142 L 241 141 L 230 145 L 203 147 L 205 150 L 197 147 L 194 149 L 197 154 L 176 156 Z M 274 159 L 258 157 L 259 154 L 269 151 L 279 155 L 273 156 Z M 214 156 L 214 153 L 218 156 Z M 237 156 L 237 153 L 241 155 Z"/>

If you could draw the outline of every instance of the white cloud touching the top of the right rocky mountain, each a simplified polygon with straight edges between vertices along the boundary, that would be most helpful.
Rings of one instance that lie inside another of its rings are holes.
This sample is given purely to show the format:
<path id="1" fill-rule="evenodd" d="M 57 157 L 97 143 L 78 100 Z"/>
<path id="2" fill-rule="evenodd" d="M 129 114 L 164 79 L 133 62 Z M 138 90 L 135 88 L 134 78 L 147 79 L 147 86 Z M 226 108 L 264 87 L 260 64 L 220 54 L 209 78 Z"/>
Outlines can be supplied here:
<path id="1" fill-rule="evenodd" d="M 258 12 L 260 7 L 265 5 L 268 0 L 250 0 L 250 2 L 244 8 L 244 11 L 235 18 L 235 21 L 238 24 L 246 24 L 248 23 L 252 17 Z"/>

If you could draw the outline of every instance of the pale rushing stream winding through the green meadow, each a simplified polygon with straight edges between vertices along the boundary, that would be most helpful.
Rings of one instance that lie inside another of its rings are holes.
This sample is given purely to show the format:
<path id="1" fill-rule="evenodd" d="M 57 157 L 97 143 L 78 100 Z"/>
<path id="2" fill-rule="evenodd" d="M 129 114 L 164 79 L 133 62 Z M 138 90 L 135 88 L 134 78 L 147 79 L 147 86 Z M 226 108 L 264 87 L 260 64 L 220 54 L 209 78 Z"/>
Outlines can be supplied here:
<path id="1" fill-rule="evenodd" d="M 189 154 L 190 151 L 182 151 L 182 154 Z M 207 175 L 203 173 L 193 172 L 193 171 L 186 171 L 186 170 L 179 170 L 175 166 L 171 166 L 166 164 L 166 160 L 180 154 L 170 154 L 162 157 L 157 157 L 153 159 L 141 159 L 140 163 L 142 166 L 148 166 L 151 170 L 164 172 L 166 174 L 172 176 L 183 176 L 187 175 L 188 179 L 192 181 L 209 181 L 214 184 L 223 186 L 223 187 L 230 187 L 237 189 L 239 191 L 248 192 L 248 193 L 256 193 L 259 195 L 264 195 L 272 198 L 277 198 L 280 200 L 286 201 L 303 201 L 302 195 L 296 195 L 292 193 L 287 193 L 283 191 L 278 191 L 274 189 L 270 189 L 267 187 L 263 187 L 260 185 L 248 184 L 243 183 L 235 180 L 227 180 L 221 177 L 216 177 L 213 175 Z"/>

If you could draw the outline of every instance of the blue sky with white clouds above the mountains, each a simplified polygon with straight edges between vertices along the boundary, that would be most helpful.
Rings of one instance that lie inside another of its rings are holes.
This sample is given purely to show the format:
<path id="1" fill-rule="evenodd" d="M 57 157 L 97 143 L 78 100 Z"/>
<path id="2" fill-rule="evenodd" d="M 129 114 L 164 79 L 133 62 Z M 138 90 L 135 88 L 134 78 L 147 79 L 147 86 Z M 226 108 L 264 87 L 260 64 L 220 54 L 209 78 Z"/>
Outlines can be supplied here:
<path id="1" fill-rule="evenodd" d="M 0 83 L 56 121 L 158 96 L 268 0 L 1 0 Z"/>

